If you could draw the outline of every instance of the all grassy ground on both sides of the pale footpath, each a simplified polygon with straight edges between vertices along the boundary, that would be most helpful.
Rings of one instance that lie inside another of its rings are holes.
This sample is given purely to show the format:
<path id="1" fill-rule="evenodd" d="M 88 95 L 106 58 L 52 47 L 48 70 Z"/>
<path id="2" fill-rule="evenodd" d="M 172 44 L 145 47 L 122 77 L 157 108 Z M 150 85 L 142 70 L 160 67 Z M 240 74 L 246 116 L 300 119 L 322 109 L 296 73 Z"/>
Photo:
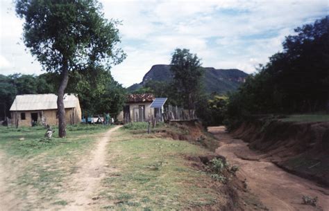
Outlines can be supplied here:
<path id="1" fill-rule="evenodd" d="M 210 154 L 208 149 L 146 134 L 146 126 L 127 125 L 111 135 L 106 176 L 90 193 L 99 197 L 94 210 L 199 210 L 229 200 L 217 189 L 221 183 L 192 167 L 186 159 Z M 65 192 L 70 175 L 78 171 L 78 161 L 87 157 L 99 134 L 107 129 L 68 127 L 67 138 L 55 134 L 52 140 L 44 140 L 42 127 L 0 127 L 0 164 L 9 169 L 8 194 L 21 201 L 19 210 L 43 210 L 49 206 L 57 210 L 71 203 L 60 194 Z"/>

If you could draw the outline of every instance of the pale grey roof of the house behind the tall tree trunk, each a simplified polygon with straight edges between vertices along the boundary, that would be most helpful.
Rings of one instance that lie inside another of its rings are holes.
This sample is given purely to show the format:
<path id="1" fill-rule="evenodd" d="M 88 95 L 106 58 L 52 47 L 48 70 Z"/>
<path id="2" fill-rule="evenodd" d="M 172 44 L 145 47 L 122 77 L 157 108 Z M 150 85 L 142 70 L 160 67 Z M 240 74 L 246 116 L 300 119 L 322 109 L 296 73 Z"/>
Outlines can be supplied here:
<path id="1" fill-rule="evenodd" d="M 65 108 L 74 108 L 78 103 L 78 98 L 74 94 L 64 95 Z M 37 111 L 57 109 L 57 95 L 17 95 L 10 111 Z"/>

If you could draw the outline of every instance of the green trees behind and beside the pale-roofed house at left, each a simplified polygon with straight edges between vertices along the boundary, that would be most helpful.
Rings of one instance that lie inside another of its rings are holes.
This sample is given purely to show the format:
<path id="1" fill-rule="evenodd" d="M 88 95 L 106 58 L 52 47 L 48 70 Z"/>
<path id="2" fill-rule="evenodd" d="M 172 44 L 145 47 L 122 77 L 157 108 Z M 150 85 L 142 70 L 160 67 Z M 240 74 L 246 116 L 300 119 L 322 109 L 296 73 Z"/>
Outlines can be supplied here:
<path id="1" fill-rule="evenodd" d="M 57 93 L 60 77 L 55 73 L 41 75 L 0 75 L 0 117 L 10 118 L 10 106 L 16 95 Z M 72 71 L 65 91 L 78 95 L 83 116 L 110 113 L 117 116 L 126 99 L 126 89 L 103 68 Z"/>

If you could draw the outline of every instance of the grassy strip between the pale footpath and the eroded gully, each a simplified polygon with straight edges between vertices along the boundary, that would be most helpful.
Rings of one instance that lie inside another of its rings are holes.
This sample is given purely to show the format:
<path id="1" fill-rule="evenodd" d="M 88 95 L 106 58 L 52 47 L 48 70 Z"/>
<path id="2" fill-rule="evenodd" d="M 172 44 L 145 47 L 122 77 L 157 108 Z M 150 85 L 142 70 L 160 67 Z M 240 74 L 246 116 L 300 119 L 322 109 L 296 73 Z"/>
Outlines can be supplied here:
<path id="1" fill-rule="evenodd" d="M 102 208 L 184 210 L 219 203 L 219 193 L 206 185 L 213 183 L 210 176 L 189 167 L 185 159 L 207 153 L 185 141 L 118 131 L 108 145 L 112 171 L 99 191 Z"/>

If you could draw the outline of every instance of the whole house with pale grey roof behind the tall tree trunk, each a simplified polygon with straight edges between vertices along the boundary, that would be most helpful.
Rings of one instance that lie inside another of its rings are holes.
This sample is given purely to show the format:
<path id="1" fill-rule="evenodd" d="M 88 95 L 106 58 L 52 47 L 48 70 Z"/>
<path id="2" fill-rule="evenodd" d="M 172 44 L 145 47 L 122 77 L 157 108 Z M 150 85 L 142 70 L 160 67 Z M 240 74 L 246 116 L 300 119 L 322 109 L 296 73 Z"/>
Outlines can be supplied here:
<path id="1" fill-rule="evenodd" d="M 67 124 L 81 122 L 81 107 L 74 94 L 64 95 Z M 57 95 L 17 95 L 10 107 L 12 124 L 19 126 L 58 125 Z"/>

